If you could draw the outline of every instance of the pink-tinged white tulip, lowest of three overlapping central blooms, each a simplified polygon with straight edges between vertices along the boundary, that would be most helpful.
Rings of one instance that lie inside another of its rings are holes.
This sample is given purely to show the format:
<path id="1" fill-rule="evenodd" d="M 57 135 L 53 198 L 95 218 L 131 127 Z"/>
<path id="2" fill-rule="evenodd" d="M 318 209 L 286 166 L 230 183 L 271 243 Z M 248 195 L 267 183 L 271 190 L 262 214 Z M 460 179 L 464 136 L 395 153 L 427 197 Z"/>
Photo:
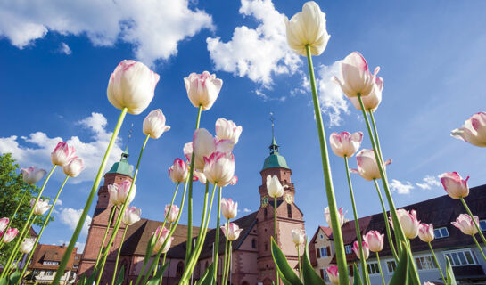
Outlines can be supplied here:
<path id="1" fill-rule="evenodd" d="M 204 157 L 204 175 L 208 181 L 219 187 L 225 187 L 235 176 L 235 157 L 231 152 L 213 152 Z"/>

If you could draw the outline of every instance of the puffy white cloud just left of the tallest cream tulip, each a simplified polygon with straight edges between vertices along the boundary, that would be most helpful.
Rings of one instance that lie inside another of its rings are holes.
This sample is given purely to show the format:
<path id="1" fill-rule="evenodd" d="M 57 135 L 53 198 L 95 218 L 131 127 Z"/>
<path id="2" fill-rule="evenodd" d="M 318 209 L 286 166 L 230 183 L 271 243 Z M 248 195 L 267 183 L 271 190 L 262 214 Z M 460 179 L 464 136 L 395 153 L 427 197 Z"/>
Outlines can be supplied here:
<path id="1" fill-rule="evenodd" d="M 208 50 L 216 70 L 248 77 L 265 87 L 272 75 L 293 74 L 301 59 L 288 47 L 284 14 L 276 11 L 271 0 L 242 0 L 239 12 L 259 22 L 257 28 L 236 27 L 227 43 L 220 37 L 208 37 Z"/>

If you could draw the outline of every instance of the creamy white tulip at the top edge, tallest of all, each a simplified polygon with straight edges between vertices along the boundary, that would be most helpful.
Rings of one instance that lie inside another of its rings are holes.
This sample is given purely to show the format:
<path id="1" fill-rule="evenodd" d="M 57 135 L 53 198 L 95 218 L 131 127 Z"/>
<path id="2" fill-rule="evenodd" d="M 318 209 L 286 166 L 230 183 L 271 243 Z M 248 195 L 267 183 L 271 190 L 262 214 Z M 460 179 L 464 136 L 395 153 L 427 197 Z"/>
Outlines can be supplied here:
<path id="1" fill-rule="evenodd" d="M 287 29 L 287 43 L 295 53 L 307 55 L 306 45 L 310 47 L 312 55 L 324 52 L 329 34 L 325 29 L 325 13 L 314 1 L 306 2 L 302 12 L 293 15 L 291 20 L 285 17 Z"/>

